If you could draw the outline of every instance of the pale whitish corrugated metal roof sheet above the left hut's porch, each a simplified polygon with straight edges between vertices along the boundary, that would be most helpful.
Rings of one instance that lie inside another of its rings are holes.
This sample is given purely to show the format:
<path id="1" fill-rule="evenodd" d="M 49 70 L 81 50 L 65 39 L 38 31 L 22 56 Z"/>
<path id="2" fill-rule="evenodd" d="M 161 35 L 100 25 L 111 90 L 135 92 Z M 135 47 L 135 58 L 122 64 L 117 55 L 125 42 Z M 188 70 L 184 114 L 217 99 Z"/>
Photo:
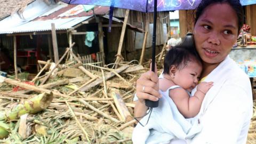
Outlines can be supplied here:
<path id="1" fill-rule="evenodd" d="M 0 34 L 13 34 L 13 33 L 29 33 L 36 31 L 49 31 L 51 30 L 51 23 L 55 23 L 56 30 L 67 30 L 78 23 L 90 19 L 91 16 L 87 17 L 77 17 L 77 18 L 67 18 L 67 19 L 55 19 L 55 20 L 45 20 L 45 21 L 30 21 L 21 26 L 13 27 L 7 30 L 1 29 Z"/>

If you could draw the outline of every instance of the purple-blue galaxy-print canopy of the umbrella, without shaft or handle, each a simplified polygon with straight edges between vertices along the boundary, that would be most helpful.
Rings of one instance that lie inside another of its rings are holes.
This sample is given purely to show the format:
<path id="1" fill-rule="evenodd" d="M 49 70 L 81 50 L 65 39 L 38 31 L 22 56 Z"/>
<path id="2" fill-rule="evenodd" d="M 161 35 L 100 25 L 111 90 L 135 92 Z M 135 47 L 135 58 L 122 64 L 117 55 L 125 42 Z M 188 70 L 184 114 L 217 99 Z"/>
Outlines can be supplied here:
<path id="1" fill-rule="evenodd" d="M 68 4 L 87 4 L 119 7 L 140 12 L 154 12 L 154 0 L 61 0 Z M 256 0 L 240 0 L 242 5 L 255 4 Z M 201 0 L 158 0 L 157 11 L 193 10 Z"/>

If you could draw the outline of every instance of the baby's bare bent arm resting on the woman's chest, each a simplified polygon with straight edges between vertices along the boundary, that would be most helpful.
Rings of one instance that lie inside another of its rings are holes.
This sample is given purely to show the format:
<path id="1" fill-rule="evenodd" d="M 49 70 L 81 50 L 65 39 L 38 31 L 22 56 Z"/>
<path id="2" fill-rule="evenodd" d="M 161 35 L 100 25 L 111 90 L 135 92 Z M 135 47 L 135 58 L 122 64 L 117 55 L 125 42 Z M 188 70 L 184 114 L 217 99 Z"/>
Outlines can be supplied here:
<path id="1" fill-rule="evenodd" d="M 212 82 L 198 84 L 194 97 L 189 97 L 186 90 L 182 88 L 170 90 L 169 95 L 180 113 L 186 118 L 191 118 L 199 113 L 205 93 L 212 87 L 212 84 Z"/>

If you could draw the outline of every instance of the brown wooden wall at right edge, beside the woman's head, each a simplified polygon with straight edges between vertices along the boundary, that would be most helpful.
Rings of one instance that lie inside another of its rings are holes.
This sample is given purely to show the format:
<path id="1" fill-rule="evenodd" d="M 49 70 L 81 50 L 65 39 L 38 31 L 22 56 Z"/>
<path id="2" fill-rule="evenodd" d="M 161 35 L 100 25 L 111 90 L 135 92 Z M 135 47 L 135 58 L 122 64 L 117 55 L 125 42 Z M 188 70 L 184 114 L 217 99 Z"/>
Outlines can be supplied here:
<path id="1" fill-rule="evenodd" d="M 245 23 L 251 27 L 251 34 L 256 35 L 256 4 L 245 6 Z"/>

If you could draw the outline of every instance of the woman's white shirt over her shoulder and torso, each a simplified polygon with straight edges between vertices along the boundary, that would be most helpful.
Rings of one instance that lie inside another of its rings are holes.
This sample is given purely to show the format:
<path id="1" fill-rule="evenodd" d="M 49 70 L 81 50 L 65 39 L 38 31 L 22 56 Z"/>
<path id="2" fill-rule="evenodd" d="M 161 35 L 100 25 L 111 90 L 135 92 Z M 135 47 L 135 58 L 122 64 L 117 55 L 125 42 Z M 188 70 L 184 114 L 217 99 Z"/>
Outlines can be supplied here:
<path id="1" fill-rule="evenodd" d="M 204 81 L 214 85 L 206 93 L 199 112 L 203 129 L 188 143 L 246 143 L 253 113 L 249 77 L 227 57 Z"/>

